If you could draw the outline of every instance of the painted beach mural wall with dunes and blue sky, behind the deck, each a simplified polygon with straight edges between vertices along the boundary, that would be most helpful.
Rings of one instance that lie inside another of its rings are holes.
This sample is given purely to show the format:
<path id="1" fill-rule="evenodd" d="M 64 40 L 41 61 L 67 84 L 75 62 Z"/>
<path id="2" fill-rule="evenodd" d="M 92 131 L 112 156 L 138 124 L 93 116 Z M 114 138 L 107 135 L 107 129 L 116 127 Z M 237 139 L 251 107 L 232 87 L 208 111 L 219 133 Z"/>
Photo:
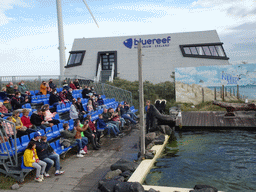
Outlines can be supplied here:
<path id="1" fill-rule="evenodd" d="M 224 85 L 225 100 L 239 97 L 256 100 L 256 64 L 214 65 L 175 69 L 176 102 L 201 103 L 213 101 L 216 89 L 217 100 L 221 100 Z"/>

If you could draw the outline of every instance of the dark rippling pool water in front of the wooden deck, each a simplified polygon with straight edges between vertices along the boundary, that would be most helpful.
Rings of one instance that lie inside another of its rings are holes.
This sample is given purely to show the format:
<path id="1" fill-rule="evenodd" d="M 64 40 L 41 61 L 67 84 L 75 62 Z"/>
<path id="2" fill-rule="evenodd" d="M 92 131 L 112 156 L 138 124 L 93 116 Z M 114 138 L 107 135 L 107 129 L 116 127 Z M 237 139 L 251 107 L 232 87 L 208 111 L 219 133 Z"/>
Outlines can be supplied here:
<path id="1" fill-rule="evenodd" d="M 256 131 L 175 133 L 144 184 L 256 191 Z"/>

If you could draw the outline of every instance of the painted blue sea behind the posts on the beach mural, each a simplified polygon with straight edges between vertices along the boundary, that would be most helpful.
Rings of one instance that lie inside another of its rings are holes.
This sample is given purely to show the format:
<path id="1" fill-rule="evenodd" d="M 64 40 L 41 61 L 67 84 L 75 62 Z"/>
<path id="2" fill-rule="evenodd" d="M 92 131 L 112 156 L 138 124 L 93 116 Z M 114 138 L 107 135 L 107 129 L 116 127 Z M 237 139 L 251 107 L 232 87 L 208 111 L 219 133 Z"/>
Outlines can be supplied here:
<path id="1" fill-rule="evenodd" d="M 211 90 L 214 90 L 213 87 L 209 87 Z M 230 92 L 233 94 L 233 90 L 235 91 L 235 94 L 237 92 L 236 86 L 226 86 L 228 93 Z M 217 91 L 220 90 L 220 87 L 217 88 Z M 246 86 L 240 86 L 239 87 L 239 94 L 242 96 L 246 96 L 247 99 L 256 100 L 256 85 L 246 85 Z"/>

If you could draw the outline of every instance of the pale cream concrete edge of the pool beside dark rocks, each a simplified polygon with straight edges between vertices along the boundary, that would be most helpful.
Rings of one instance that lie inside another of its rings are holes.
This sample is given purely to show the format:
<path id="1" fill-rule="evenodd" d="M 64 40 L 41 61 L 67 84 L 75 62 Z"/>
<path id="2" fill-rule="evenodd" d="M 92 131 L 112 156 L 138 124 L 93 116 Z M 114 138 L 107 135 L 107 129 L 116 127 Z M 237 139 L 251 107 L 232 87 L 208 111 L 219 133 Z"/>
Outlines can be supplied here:
<path id="1" fill-rule="evenodd" d="M 139 182 L 140 184 L 142 184 L 147 176 L 147 174 L 149 173 L 149 171 L 151 170 L 151 168 L 153 167 L 154 163 L 156 162 L 156 159 L 159 158 L 159 156 L 161 155 L 161 153 L 163 152 L 168 139 L 170 136 L 165 135 L 165 141 L 163 143 L 163 145 L 155 145 L 151 148 L 151 150 L 155 150 L 156 154 L 154 156 L 153 159 L 145 159 L 143 160 L 138 168 L 134 171 L 134 173 L 132 174 L 132 176 L 130 177 L 130 179 L 128 180 L 128 182 Z M 143 185 L 145 190 L 149 190 L 150 188 L 153 188 L 155 190 L 158 190 L 160 192 L 189 192 L 190 190 L 193 189 L 188 189 L 188 188 L 177 188 L 177 187 L 164 187 L 164 186 L 151 186 L 151 185 Z"/>

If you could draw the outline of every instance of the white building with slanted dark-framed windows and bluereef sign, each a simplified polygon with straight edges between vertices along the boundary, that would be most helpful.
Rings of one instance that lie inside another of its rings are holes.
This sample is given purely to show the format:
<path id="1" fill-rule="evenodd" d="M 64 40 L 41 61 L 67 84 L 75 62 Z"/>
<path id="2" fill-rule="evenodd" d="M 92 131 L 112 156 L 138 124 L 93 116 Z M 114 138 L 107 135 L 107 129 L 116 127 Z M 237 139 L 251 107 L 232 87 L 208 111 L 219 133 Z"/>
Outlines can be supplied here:
<path id="1" fill-rule="evenodd" d="M 65 75 L 105 81 L 138 80 L 138 42 L 142 42 L 143 80 L 172 80 L 177 67 L 229 65 L 215 30 L 75 39 Z M 98 75 L 98 76 L 97 76 Z"/>

